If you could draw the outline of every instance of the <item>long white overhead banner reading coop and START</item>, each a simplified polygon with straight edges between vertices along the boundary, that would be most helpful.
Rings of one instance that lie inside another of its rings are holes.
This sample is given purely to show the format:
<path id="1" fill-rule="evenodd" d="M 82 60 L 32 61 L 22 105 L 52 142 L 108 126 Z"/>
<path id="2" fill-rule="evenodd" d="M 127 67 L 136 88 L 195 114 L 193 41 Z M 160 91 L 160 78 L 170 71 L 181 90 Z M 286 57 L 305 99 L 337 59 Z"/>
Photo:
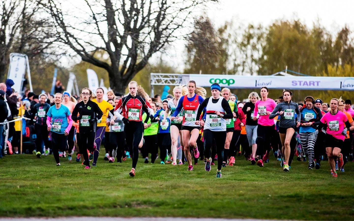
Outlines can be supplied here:
<path id="1" fill-rule="evenodd" d="M 183 83 L 187 84 L 186 78 Z M 354 77 L 312 77 L 312 76 L 239 76 L 190 74 L 197 86 L 210 87 L 219 83 L 228 88 L 301 89 L 301 90 L 354 90 Z"/>

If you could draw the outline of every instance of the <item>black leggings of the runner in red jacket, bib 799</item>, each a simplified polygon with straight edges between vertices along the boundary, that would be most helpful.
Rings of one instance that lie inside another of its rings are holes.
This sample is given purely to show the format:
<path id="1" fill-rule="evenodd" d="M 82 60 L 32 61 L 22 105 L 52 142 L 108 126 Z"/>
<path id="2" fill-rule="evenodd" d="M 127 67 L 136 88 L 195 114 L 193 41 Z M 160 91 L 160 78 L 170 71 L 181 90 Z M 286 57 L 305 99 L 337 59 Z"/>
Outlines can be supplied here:
<path id="1" fill-rule="evenodd" d="M 143 124 L 141 121 L 129 121 L 124 125 L 125 140 L 133 156 L 132 168 L 136 168 L 139 157 L 139 143 L 143 137 Z"/>

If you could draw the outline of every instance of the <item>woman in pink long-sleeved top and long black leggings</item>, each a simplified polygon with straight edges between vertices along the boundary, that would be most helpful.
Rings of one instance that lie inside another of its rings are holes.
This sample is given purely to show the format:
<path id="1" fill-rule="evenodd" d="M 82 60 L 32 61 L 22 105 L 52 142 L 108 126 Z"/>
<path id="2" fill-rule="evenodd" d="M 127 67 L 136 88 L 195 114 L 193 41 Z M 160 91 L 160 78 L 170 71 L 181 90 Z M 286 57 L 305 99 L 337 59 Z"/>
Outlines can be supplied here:
<path id="1" fill-rule="evenodd" d="M 274 120 L 269 119 L 269 115 L 272 113 L 276 103 L 273 99 L 268 98 L 268 88 L 261 88 L 261 100 L 257 100 L 255 103 L 255 110 L 253 111 L 253 120 L 257 120 L 257 155 L 259 159 L 257 165 L 263 167 L 263 156 L 267 152 L 269 155 L 270 151 L 270 141 L 272 140 L 272 135 L 274 134 L 275 125 Z M 259 114 L 259 115 L 258 115 Z M 256 160 L 252 159 L 251 164 L 255 164 Z"/>

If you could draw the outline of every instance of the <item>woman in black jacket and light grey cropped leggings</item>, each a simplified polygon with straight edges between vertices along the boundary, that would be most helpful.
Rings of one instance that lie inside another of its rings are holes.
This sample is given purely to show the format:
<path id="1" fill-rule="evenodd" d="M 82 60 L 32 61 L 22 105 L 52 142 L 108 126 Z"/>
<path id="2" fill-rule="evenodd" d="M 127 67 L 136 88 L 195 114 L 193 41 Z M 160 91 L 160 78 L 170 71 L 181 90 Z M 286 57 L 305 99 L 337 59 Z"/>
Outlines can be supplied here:
<path id="1" fill-rule="evenodd" d="M 252 156 L 251 156 L 251 164 L 256 163 L 256 152 L 257 152 L 257 128 L 258 128 L 258 117 L 259 114 L 256 115 L 256 120 L 254 119 L 255 115 L 255 103 L 259 100 L 259 96 L 257 92 L 251 92 L 248 95 L 247 102 L 244 107 L 242 107 L 242 111 L 246 115 L 246 134 L 250 147 L 252 148 Z"/>

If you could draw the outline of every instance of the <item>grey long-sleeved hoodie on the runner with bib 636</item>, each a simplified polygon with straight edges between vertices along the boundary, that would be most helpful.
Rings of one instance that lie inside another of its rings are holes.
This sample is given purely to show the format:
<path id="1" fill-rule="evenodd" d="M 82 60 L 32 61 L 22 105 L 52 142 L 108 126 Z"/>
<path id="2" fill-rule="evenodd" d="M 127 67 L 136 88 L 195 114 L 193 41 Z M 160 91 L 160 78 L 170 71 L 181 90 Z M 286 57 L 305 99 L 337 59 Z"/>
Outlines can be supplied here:
<path id="1" fill-rule="evenodd" d="M 277 104 L 274 110 L 272 111 L 272 114 L 269 115 L 269 119 L 273 119 L 275 116 L 278 116 L 280 111 L 284 111 L 284 113 L 280 116 L 279 127 L 295 127 L 295 113 L 297 115 L 297 121 L 301 121 L 301 113 L 297 103 L 294 103 L 292 101 L 290 101 L 290 103 L 287 103 L 284 101 Z"/>

